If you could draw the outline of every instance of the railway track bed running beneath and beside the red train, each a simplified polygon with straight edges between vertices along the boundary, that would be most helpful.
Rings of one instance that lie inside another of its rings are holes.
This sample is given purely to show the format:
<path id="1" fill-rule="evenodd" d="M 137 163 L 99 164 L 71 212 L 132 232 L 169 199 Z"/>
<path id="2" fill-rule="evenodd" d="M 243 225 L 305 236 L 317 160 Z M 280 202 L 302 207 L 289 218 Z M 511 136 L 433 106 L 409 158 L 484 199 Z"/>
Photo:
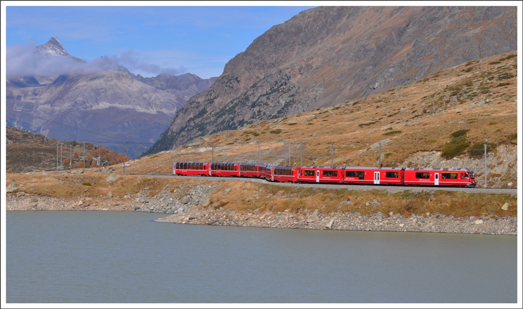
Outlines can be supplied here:
<path id="1" fill-rule="evenodd" d="M 311 188 L 324 188 L 324 189 L 349 189 L 349 190 L 386 190 L 389 193 L 402 192 L 410 190 L 412 192 L 422 191 L 458 191 L 466 193 L 488 193 L 488 194 L 510 194 L 517 195 L 517 188 L 463 188 L 463 187 L 442 187 L 442 186 L 394 186 L 394 185 L 347 185 L 347 184 L 316 184 L 316 183 L 282 183 L 282 182 L 269 182 L 263 179 L 257 178 L 244 178 L 244 177 L 217 177 L 217 176 L 175 176 L 175 175 L 127 175 L 127 176 L 139 176 L 139 177 L 156 177 L 156 178 L 172 178 L 172 179 L 192 179 L 201 181 L 244 181 L 244 182 L 257 182 L 265 183 L 277 186 L 301 186 Z"/>

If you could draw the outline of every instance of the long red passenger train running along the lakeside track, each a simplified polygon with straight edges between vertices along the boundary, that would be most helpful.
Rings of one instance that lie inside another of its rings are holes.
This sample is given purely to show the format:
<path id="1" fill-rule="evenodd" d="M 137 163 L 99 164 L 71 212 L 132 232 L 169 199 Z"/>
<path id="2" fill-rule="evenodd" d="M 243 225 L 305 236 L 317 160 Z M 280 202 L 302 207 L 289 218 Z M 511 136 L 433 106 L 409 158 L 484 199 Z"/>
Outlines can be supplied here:
<path id="1" fill-rule="evenodd" d="M 263 163 L 176 162 L 175 175 L 256 177 L 274 182 L 475 187 L 469 169 L 278 167 Z"/>

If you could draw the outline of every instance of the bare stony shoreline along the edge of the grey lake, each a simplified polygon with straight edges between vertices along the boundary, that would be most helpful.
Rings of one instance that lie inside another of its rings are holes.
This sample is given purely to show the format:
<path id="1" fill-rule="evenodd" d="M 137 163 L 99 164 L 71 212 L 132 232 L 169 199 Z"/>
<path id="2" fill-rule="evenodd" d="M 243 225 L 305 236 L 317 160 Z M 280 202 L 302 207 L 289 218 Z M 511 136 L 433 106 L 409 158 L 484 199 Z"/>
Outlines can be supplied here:
<path id="1" fill-rule="evenodd" d="M 394 213 L 360 215 L 354 212 L 309 210 L 236 212 L 210 204 L 209 195 L 215 186 L 197 185 L 178 195 L 163 191 L 153 196 L 147 189 L 124 197 L 51 198 L 24 192 L 6 197 L 8 211 L 17 210 L 126 210 L 170 213 L 157 222 L 180 224 L 226 225 L 237 227 L 264 227 L 309 230 L 394 231 L 517 235 L 517 217 L 453 217 L 440 213 L 411 215 L 406 218 Z"/>

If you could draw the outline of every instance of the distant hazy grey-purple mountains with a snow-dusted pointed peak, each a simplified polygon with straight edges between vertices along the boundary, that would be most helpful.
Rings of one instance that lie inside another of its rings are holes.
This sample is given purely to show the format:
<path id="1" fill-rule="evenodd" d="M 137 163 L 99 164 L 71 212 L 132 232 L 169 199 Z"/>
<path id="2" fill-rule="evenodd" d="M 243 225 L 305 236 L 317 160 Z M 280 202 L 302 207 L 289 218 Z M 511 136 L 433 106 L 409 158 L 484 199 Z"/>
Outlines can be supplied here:
<path id="1" fill-rule="evenodd" d="M 176 111 L 216 80 L 190 73 L 144 78 L 108 57 L 87 66 L 67 53 L 56 37 L 36 51 L 57 61 L 71 59 L 88 69 L 8 78 L 7 125 L 59 140 L 153 143 Z"/>

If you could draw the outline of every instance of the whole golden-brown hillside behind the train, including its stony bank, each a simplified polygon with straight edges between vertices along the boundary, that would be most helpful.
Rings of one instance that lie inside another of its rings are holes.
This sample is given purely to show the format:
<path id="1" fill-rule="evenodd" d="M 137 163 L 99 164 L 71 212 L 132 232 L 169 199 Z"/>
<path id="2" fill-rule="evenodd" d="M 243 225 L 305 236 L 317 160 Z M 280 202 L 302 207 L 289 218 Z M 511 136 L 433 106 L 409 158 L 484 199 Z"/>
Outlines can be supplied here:
<path id="1" fill-rule="evenodd" d="M 198 137 L 129 173 L 170 175 L 173 162 L 188 161 L 378 167 L 381 159 L 382 167 L 468 168 L 483 186 L 486 141 L 488 187 L 515 187 L 517 66 L 515 52 L 470 61 L 360 100 Z"/>

